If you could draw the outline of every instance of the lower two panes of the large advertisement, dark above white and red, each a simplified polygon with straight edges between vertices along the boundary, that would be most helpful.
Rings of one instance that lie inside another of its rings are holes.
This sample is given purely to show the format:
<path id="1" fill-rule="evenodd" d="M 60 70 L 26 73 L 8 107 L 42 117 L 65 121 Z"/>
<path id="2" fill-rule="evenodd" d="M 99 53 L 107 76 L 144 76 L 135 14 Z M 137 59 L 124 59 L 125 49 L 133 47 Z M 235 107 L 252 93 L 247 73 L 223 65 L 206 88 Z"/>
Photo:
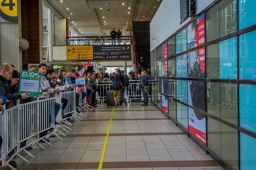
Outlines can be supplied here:
<path id="1" fill-rule="evenodd" d="M 188 81 L 188 104 L 205 111 L 204 81 Z M 197 110 L 189 108 L 189 133 L 206 145 L 206 118 Z"/>

